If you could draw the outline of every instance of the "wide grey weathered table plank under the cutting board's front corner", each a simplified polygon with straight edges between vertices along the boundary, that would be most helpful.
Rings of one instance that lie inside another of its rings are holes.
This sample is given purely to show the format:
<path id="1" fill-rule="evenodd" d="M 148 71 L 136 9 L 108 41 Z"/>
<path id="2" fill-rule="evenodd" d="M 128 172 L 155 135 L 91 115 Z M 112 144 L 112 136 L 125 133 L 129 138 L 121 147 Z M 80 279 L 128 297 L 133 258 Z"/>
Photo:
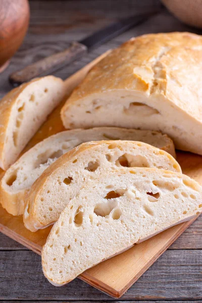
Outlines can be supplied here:
<path id="1" fill-rule="evenodd" d="M 167 250 L 122 300 L 201 300 L 201 260 L 202 250 Z M 53 298 L 110 300 L 109 296 L 79 279 L 63 287 L 51 285 L 42 274 L 40 257 L 34 252 L 0 251 L 0 299 Z"/>

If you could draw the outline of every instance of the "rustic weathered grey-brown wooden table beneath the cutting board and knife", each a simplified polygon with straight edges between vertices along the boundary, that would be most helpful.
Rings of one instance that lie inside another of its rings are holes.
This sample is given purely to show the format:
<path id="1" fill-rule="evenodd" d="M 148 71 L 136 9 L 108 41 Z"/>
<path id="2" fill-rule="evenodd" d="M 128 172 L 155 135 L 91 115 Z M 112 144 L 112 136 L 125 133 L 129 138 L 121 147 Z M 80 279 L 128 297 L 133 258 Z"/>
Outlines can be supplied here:
<path id="1" fill-rule="evenodd" d="M 0 96 L 9 89 L 8 75 L 44 56 L 66 48 L 94 30 L 142 12 L 157 15 L 144 24 L 94 49 L 85 58 L 55 72 L 66 79 L 107 49 L 132 36 L 149 32 L 201 31 L 172 17 L 158 0 L 30 1 L 28 34 L 7 70 L 0 75 Z M 150 267 L 120 301 L 202 302 L 202 216 Z M 121 274 L 121 273 L 120 273 Z M 112 301 L 108 295 L 79 279 L 55 287 L 42 274 L 40 257 L 0 233 L 0 300 L 5 301 Z"/>

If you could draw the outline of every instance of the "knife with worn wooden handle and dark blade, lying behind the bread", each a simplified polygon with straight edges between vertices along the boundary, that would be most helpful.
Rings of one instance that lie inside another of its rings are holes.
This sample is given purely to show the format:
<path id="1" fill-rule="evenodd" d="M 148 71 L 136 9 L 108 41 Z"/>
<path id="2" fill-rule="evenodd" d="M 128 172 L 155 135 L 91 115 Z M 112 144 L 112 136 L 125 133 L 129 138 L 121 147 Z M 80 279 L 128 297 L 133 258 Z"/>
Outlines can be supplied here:
<path id="1" fill-rule="evenodd" d="M 79 42 L 72 42 L 71 45 L 65 49 L 65 51 L 41 59 L 33 64 L 28 65 L 22 70 L 12 73 L 9 77 L 9 82 L 13 86 L 18 86 L 35 77 L 38 77 L 44 72 L 48 72 L 49 70 L 57 70 L 63 65 L 70 64 L 71 62 L 84 56 L 92 47 L 98 46 L 120 35 L 128 29 L 147 20 L 147 18 L 149 18 L 151 15 L 154 15 L 154 12 L 152 14 L 147 13 L 121 19 L 116 23 L 96 31 L 92 35 L 80 40 Z"/>

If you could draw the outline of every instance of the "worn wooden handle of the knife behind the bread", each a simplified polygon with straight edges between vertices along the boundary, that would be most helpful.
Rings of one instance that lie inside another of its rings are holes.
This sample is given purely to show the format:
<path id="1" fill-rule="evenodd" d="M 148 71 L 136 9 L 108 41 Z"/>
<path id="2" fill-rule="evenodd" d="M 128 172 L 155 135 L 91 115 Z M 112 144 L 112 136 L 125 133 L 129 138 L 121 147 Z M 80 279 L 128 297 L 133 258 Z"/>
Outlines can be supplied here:
<path id="1" fill-rule="evenodd" d="M 73 42 L 65 51 L 41 59 L 24 69 L 14 72 L 10 75 L 9 81 L 13 86 L 18 86 L 27 82 L 49 69 L 57 68 L 62 64 L 67 65 L 80 58 L 87 52 L 87 47 L 79 42 Z"/>

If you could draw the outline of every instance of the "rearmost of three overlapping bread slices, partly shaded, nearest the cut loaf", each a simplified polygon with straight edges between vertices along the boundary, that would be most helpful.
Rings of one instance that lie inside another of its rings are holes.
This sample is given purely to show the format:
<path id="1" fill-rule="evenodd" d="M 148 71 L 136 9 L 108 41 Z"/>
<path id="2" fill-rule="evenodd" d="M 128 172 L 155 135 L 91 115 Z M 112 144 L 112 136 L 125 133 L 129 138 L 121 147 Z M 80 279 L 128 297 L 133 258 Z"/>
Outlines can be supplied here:
<path id="1" fill-rule="evenodd" d="M 12 215 L 23 214 L 27 192 L 49 165 L 82 142 L 106 139 L 143 141 L 175 157 L 173 141 L 156 131 L 116 127 L 63 131 L 36 144 L 7 170 L 0 183 L 2 206 Z"/>

